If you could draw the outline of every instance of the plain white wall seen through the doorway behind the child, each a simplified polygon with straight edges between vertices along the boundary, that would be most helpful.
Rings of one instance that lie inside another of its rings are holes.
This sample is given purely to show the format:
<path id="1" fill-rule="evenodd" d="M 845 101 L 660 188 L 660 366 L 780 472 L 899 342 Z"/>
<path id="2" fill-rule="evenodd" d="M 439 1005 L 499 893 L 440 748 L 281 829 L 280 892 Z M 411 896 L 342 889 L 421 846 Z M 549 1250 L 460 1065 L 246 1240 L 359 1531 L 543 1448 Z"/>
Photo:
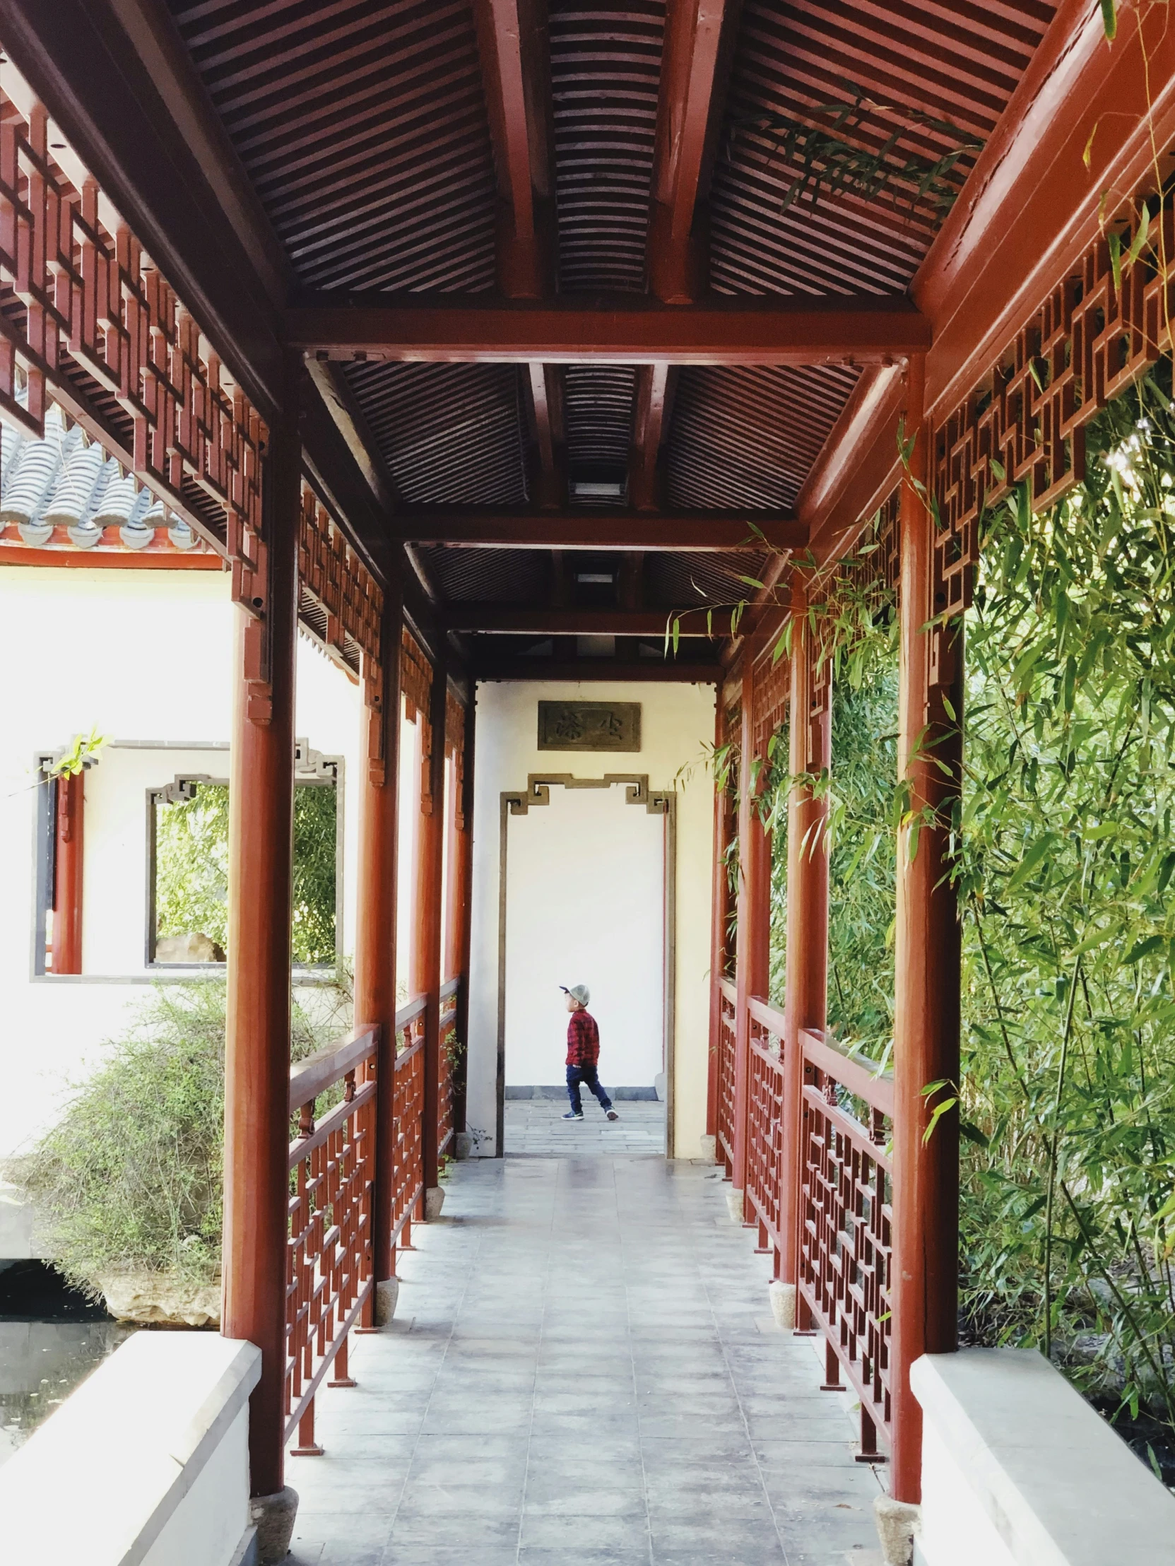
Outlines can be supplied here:
<path id="1" fill-rule="evenodd" d="M 609 789 L 551 789 L 509 821 L 506 1085 L 564 1081 L 559 985 L 586 983 L 600 1079 L 652 1087 L 664 1060 L 664 816 Z"/>

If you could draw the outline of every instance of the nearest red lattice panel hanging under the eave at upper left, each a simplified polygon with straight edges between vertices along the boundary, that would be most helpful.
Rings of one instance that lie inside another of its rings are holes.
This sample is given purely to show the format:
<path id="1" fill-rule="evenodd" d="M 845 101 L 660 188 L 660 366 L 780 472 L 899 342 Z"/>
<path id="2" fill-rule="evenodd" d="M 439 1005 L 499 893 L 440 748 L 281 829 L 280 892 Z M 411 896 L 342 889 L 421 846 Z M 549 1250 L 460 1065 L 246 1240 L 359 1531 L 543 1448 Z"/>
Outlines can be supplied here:
<path id="1" fill-rule="evenodd" d="M 0 285 L 19 305 L 0 313 L 0 409 L 42 438 L 67 362 L 92 376 L 130 417 L 135 476 L 205 537 L 185 478 L 224 511 L 233 598 L 262 614 L 265 424 L 130 229 L 105 229 L 97 182 L 77 191 L 53 161 L 45 110 L 25 121 L 0 94 Z"/>

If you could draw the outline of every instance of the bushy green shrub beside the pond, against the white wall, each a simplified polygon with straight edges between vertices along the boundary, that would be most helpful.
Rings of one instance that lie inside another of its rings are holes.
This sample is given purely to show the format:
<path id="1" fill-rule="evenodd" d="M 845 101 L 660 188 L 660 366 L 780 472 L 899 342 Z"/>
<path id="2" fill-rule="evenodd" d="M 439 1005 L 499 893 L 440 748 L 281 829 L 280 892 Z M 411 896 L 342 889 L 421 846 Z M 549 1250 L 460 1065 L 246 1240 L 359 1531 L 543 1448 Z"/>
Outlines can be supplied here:
<path id="1" fill-rule="evenodd" d="M 293 1060 L 337 1037 L 335 999 L 315 1023 L 295 1005 Z M 160 985 L 20 1168 L 58 1267 L 91 1294 L 119 1270 L 219 1270 L 224 1005 L 222 982 Z"/>

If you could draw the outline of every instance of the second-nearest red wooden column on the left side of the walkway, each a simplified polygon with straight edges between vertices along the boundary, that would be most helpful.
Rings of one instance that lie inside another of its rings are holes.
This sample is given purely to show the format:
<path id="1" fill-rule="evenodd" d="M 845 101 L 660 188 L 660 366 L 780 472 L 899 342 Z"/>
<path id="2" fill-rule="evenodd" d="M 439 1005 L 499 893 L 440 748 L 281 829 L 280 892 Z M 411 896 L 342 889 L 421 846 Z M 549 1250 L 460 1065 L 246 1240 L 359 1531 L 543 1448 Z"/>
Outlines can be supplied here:
<path id="1" fill-rule="evenodd" d="M 384 594 L 379 659 L 363 659 L 363 767 L 359 796 L 359 907 L 356 922 L 356 1026 L 379 1027 L 376 1057 L 376 1181 L 373 1262 L 379 1284 L 395 1276 L 396 1073 L 396 800 L 400 789 L 400 587 Z"/>

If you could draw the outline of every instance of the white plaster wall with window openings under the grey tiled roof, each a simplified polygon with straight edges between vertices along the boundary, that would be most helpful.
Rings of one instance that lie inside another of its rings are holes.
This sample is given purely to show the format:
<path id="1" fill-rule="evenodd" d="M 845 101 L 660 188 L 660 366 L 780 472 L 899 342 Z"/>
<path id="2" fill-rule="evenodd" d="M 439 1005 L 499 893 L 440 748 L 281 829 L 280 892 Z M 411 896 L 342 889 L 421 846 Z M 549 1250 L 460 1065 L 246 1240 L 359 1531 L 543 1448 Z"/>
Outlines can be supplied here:
<path id="1" fill-rule="evenodd" d="M 149 991 L 146 788 L 227 775 L 227 750 L 110 747 L 86 775 L 81 977 L 33 979 L 34 760 L 97 727 L 119 741 L 227 744 L 229 578 L 219 572 L 0 567 L 0 1157 L 25 1149 Z M 362 694 L 298 640 L 296 731 L 345 756 L 343 947 L 352 949 Z M 158 777 L 157 777 L 158 774 Z M 127 783 L 124 792 L 116 780 Z"/>

